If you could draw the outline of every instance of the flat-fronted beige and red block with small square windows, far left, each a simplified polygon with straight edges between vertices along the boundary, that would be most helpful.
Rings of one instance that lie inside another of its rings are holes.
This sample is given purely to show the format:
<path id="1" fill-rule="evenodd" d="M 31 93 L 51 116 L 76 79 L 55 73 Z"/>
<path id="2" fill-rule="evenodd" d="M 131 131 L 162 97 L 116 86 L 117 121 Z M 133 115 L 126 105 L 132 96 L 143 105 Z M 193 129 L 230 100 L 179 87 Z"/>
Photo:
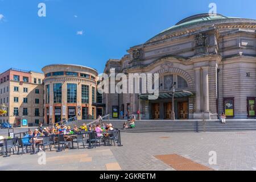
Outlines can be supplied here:
<path id="1" fill-rule="evenodd" d="M 38 125 L 44 119 L 43 73 L 11 68 L 0 74 L 0 104 L 7 114 L 0 123 L 14 126 Z"/>

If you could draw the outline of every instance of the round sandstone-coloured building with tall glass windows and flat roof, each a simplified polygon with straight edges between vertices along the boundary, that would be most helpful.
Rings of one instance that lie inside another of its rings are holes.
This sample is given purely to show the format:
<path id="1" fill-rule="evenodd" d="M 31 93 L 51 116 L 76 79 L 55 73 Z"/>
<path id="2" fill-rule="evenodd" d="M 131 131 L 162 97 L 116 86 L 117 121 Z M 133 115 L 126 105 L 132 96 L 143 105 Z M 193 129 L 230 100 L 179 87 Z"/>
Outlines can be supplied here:
<path id="1" fill-rule="evenodd" d="M 95 119 L 102 115 L 102 105 L 97 104 L 96 69 L 82 65 L 51 64 L 44 72 L 44 99 L 46 123 L 56 123 L 68 118 Z M 100 101 L 101 102 L 101 101 Z"/>

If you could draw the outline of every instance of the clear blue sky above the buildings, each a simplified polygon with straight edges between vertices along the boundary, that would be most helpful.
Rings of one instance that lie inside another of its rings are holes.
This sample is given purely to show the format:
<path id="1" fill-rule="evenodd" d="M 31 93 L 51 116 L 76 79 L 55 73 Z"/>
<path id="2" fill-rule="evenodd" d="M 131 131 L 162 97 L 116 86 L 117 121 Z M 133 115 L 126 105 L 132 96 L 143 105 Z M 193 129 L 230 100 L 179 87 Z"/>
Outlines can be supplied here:
<path id="1" fill-rule="evenodd" d="M 38 4 L 46 3 L 46 17 Z M 101 73 L 106 60 L 193 14 L 256 19 L 255 0 L 0 0 L 0 73 L 41 72 L 47 64 L 81 64 Z M 82 35 L 77 32 L 82 31 Z"/>

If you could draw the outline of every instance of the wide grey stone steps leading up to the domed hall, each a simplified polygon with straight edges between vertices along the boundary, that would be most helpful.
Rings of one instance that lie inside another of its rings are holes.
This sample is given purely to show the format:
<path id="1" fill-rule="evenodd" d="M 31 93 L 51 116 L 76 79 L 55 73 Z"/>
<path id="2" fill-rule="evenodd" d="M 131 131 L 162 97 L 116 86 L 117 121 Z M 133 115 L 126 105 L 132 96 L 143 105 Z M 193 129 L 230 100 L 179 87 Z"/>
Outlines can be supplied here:
<path id="1" fill-rule="evenodd" d="M 136 121 L 134 129 L 123 130 L 125 120 L 103 120 L 101 123 L 112 123 L 114 128 L 120 129 L 122 132 L 130 133 L 146 133 L 146 132 L 203 132 L 203 131 L 256 131 L 256 120 L 227 120 L 226 124 L 220 121 L 210 120 L 205 123 L 201 120 L 144 120 Z M 92 121 L 72 121 L 69 126 L 80 127 L 82 123 L 92 123 Z M 94 122 L 96 124 L 98 122 Z"/>

